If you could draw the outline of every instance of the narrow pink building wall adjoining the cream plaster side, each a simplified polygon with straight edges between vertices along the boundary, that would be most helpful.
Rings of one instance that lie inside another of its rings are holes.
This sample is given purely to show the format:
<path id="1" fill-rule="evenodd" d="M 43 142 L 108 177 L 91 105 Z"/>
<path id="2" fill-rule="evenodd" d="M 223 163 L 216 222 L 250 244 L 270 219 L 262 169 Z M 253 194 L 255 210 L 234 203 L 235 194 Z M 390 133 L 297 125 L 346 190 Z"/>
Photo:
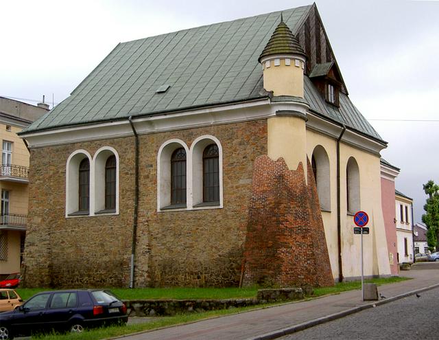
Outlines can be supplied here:
<path id="1" fill-rule="evenodd" d="M 399 264 L 397 259 L 398 240 L 396 238 L 396 212 L 395 212 L 395 178 L 399 175 L 399 168 L 392 166 L 381 158 L 381 206 L 387 238 L 388 256 L 390 262 L 390 273 L 399 275 Z"/>

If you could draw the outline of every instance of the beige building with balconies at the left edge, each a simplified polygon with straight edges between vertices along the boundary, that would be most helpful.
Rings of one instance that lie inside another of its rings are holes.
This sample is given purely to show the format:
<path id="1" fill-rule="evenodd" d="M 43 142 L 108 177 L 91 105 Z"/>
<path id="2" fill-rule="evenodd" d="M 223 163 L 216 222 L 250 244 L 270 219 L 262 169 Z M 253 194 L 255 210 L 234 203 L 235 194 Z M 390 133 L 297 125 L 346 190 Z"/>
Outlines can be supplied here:
<path id="1" fill-rule="evenodd" d="M 20 272 L 25 245 L 29 151 L 17 133 L 47 111 L 43 105 L 0 97 L 0 278 Z"/>

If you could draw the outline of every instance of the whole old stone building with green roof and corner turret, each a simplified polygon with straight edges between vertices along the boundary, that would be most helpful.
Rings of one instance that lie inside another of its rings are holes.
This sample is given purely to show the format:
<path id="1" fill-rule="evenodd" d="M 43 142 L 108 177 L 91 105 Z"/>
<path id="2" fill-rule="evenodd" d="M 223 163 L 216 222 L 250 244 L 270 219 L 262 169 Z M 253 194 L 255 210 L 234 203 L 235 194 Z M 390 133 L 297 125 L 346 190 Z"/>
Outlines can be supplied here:
<path id="1" fill-rule="evenodd" d="M 27 286 L 390 275 L 379 152 L 316 5 L 119 44 L 21 136 Z M 43 183 L 43 185 L 40 185 Z"/>

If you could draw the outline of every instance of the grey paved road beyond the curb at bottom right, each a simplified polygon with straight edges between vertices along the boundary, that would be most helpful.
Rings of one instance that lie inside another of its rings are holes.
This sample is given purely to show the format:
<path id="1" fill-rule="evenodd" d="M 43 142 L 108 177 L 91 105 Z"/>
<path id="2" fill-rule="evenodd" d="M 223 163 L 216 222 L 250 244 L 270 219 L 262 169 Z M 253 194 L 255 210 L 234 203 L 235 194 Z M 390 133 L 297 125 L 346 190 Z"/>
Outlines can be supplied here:
<path id="1" fill-rule="evenodd" d="M 282 340 L 439 339 L 439 288 L 287 335 Z"/>

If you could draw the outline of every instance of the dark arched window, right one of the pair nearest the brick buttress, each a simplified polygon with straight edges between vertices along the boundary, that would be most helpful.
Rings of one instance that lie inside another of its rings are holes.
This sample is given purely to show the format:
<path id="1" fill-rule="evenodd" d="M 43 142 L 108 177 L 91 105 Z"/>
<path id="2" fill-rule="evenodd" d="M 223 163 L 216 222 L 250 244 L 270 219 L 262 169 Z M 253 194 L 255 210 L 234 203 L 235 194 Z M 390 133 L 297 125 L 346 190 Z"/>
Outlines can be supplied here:
<path id="1" fill-rule="evenodd" d="M 203 202 L 219 202 L 219 150 L 216 144 L 203 152 Z"/>

